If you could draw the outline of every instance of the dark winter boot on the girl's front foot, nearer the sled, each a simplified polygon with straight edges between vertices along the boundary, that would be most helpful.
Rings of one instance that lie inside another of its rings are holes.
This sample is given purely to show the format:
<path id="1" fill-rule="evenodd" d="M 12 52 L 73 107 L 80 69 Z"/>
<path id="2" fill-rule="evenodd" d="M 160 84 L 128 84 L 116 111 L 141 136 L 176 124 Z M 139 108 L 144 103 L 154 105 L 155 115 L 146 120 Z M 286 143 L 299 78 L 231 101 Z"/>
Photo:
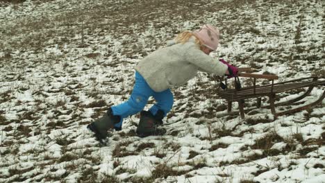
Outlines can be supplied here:
<path id="1" fill-rule="evenodd" d="M 162 135 L 164 130 L 158 130 L 157 125 L 163 124 L 163 111 L 158 110 L 157 114 L 153 116 L 150 111 L 140 112 L 140 122 L 137 128 L 139 137 L 148 137 L 150 135 Z"/>

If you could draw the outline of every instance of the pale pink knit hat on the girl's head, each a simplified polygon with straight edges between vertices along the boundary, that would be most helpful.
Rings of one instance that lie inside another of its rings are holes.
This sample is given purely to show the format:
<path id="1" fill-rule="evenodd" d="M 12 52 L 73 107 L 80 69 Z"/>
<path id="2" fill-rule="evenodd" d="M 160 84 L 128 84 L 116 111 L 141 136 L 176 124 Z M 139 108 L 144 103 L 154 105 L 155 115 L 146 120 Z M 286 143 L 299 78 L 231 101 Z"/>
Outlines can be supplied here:
<path id="1" fill-rule="evenodd" d="M 197 38 L 203 42 L 203 45 L 209 49 L 216 50 L 219 44 L 219 30 L 210 24 L 201 26 L 199 30 L 193 32 Z"/>

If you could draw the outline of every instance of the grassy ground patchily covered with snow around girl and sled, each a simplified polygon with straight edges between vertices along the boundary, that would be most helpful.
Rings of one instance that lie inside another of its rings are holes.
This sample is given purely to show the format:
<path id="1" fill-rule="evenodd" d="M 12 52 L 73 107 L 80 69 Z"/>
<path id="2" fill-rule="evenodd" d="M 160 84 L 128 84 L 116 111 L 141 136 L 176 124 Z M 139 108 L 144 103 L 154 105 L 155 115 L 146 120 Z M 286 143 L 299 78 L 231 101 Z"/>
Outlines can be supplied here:
<path id="1" fill-rule="evenodd" d="M 216 59 L 279 81 L 324 80 L 324 9 L 319 0 L 0 2 L 0 182 L 325 182 L 325 101 L 277 119 L 220 117 L 226 101 L 207 73 L 173 89 L 163 136 L 137 137 L 138 115 L 105 147 L 85 128 L 128 98 L 141 58 L 201 24 L 222 32 Z"/>

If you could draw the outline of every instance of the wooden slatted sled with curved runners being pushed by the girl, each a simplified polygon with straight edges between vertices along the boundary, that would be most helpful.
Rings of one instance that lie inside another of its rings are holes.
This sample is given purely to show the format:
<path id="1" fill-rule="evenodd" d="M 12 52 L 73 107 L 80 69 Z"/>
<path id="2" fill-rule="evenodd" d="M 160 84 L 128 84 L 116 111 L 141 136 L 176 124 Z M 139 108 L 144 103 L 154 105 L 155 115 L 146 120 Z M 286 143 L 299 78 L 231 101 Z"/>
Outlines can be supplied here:
<path id="1" fill-rule="evenodd" d="M 240 116 L 242 119 L 244 119 L 244 112 L 247 110 L 253 110 L 256 108 L 269 108 L 274 114 L 274 116 L 281 116 L 284 114 L 292 114 L 294 112 L 299 112 L 301 110 L 306 110 L 308 108 L 312 108 L 317 103 L 321 103 L 322 100 L 325 98 L 325 89 L 323 88 L 323 92 L 319 98 L 314 101 L 313 103 L 308 103 L 306 105 L 302 105 L 293 109 L 285 110 L 285 111 L 277 111 L 276 106 L 283 106 L 283 105 L 295 105 L 298 101 L 301 101 L 301 99 L 305 98 L 310 94 L 310 92 L 313 90 L 316 86 L 325 86 L 325 80 L 318 80 L 317 77 L 308 77 L 308 78 L 300 78 L 297 80 L 289 80 L 285 82 L 277 82 L 274 83 L 274 80 L 278 79 L 278 76 L 276 75 L 267 75 L 267 74 L 254 74 L 254 73 L 244 73 L 243 71 L 251 71 L 250 68 L 242 68 L 240 69 L 239 77 L 245 77 L 245 78 L 252 78 L 253 79 L 253 87 L 241 87 L 240 85 L 240 78 L 235 78 L 235 88 L 234 89 L 227 89 L 224 87 L 224 90 L 219 89 L 218 95 L 221 98 L 226 99 L 228 102 L 228 114 L 230 113 L 238 113 L 238 112 L 231 112 L 231 106 L 233 102 L 238 102 L 238 107 L 240 110 Z M 258 86 L 256 85 L 256 79 L 258 78 L 264 78 L 272 80 L 271 85 L 264 85 L 264 86 Z M 226 85 L 224 85 L 226 86 Z M 294 89 L 303 89 L 308 88 L 306 92 L 301 94 L 301 96 L 298 96 L 297 98 L 292 98 L 288 101 L 283 101 L 279 103 L 275 103 L 276 96 L 283 92 L 290 92 Z M 267 96 L 269 98 L 268 105 L 261 105 L 261 97 Z M 257 98 L 256 107 L 249 108 L 244 110 L 244 100 L 248 98 Z"/>

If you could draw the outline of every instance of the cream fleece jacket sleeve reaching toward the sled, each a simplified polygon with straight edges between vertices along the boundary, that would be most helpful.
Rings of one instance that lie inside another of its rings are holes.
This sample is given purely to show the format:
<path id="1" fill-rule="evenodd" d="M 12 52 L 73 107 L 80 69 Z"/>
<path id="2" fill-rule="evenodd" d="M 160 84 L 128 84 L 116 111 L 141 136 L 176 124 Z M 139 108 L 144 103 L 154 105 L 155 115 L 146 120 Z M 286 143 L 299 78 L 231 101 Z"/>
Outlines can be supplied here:
<path id="1" fill-rule="evenodd" d="M 207 73 L 215 73 L 219 76 L 223 76 L 228 69 L 226 64 L 219 62 L 219 60 L 206 55 L 203 51 L 194 48 L 189 49 L 187 55 L 187 60 L 191 64 L 198 67 L 199 71 L 206 71 Z"/>

